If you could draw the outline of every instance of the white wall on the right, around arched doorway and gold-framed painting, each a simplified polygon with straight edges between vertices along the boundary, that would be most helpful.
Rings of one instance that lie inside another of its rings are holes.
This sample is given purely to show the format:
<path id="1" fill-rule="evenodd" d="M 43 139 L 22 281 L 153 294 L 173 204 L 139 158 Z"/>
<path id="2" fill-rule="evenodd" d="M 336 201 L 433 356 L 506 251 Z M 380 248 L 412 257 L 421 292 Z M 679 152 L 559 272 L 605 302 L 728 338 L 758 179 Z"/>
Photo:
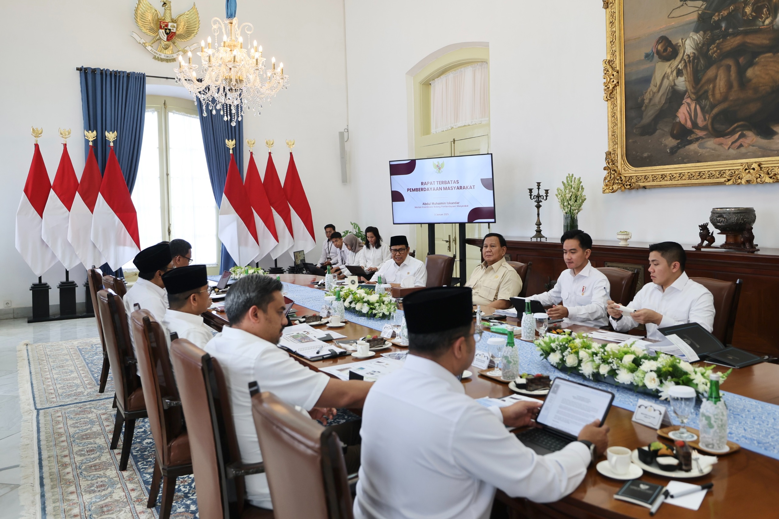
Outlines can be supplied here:
<path id="1" fill-rule="evenodd" d="M 413 157 L 406 73 L 439 48 L 485 41 L 490 49 L 490 103 L 495 201 L 504 235 L 530 236 L 535 207 L 527 188 L 550 189 L 541 208 L 545 235 L 562 233 L 555 188 L 581 176 L 587 202 L 580 228 L 595 239 L 698 242 L 712 207 L 755 207 L 756 241 L 779 246 L 779 184 L 640 189 L 601 193 L 607 149 L 601 60 L 605 11 L 596 0 L 548 2 L 346 0 L 351 171 L 361 196 L 361 223 L 382 234 L 392 226 L 387 161 Z M 367 196 L 377 193 L 376 203 Z M 719 237 L 718 237 L 719 238 Z"/>

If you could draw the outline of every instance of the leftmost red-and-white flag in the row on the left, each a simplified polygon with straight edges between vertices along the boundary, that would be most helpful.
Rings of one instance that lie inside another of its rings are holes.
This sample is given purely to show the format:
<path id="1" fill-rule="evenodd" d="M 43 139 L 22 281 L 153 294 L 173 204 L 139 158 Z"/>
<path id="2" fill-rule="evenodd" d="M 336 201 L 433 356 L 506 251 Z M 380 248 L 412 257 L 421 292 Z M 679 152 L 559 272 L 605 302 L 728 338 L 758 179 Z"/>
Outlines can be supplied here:
<path id="1" fill-rule="evenodd" d="M 44 207 L 50 191 L 51 182 L 44 157 L 41 157 L 41 149 L 35 143 L 33 162 L 19 200 L 19 209 L 16 210 L 16 250 L 38 277 L 57 263 L 57 256 L 41 238 Z"/>

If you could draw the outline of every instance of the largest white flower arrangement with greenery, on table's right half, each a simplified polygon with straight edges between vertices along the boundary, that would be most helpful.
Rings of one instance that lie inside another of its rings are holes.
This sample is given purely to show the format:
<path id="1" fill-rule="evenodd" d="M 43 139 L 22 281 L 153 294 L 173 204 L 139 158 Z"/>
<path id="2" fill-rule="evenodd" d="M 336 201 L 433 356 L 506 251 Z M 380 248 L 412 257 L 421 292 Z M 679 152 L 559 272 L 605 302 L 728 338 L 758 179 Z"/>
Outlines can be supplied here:
<path id="1" fill-rule="evenodd" d="M 641 393 L 668 400 L 672 386 L 693 387 L 701 397 L 709 392 L 713 365 L 696 367 L 664 353 L 648 355 L 635 343 L 598 344 L 583 334 L 549 334 L 535 341 L 536 348 L 557 369 L 575 372 L 590 380 L 632 387 Z M 722 373 L 722 382 L 728 375 Z"/>

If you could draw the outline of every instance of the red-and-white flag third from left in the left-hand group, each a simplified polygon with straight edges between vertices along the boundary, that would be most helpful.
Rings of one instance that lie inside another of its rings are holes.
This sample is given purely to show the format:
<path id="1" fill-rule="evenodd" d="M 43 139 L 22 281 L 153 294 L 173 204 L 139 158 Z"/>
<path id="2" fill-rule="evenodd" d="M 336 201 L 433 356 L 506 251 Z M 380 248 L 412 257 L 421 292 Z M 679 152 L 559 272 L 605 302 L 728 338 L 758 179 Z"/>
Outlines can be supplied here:
<path id="1" fill-rule="evenodd" d="M 76 190 L 73 205 L 70 207 L 70 224 L 68 226 L 68 241 L 87 269 L 92 266 L 100 267 L 105 263 L 100 249 L 97 249 L 92 242 L 92 211 L 97 203 L 97 195 L 100 194 L 102 182 L 100 166 L 97 165 L 97 158 L 95 158 L 90 144 L 90 154 L 86 156 L 79 189 Z"/>

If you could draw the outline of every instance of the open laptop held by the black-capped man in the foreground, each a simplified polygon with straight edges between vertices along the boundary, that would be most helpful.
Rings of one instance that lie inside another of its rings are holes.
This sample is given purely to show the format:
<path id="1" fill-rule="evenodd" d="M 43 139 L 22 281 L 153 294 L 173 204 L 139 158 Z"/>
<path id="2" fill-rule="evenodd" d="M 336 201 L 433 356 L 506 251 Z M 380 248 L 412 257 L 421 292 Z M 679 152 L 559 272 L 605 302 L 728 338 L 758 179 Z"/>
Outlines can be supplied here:
<path id="1" fill-rule="evenodd" d="M 527 429 L 516 437 L 538 454 L 561 450 L 576 441 L 584 425 L 606 421 L 614 394 L 582 383 L 557 378 L 552 380 L 549 394 L 538 411 L 540 429 Z"/>

